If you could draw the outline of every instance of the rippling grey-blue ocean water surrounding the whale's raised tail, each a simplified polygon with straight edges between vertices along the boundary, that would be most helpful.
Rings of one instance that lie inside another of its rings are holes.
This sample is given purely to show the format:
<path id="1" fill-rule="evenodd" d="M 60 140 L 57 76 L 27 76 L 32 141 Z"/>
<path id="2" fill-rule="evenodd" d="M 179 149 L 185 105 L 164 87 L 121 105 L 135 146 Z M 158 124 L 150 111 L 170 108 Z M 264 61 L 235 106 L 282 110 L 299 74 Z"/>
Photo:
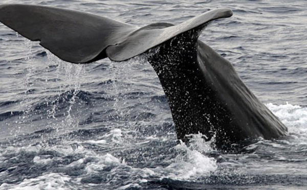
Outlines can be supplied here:
<path id="1" fill-rule="evenodd" d="M 288 127 L 244 152 L 177 140 L 143 56 L 71 64 L 0 24 L 0 189 L 307 189 L 307 1 L 2 0 L 136 26 L 215 8 L 200 39 L 228 59 Z"/>

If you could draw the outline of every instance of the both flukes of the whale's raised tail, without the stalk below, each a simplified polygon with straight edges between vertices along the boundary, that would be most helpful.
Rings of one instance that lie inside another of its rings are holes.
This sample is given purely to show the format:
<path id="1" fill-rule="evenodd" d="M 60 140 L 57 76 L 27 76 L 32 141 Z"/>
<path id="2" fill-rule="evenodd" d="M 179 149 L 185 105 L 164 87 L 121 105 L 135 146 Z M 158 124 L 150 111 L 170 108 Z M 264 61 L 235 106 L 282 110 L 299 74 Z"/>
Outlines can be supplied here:
<path id="1" fill-rule="evenodd" d="M 215 9 L 180 25 L 151 24 L 143 28 L 109 18 L 60 8 L 9 4 L 0 6 L 0 21 L 48 49 L 60 59 L 89 63 L 108 57 L 123 61 L 214 19 L 230 9 Z"/>

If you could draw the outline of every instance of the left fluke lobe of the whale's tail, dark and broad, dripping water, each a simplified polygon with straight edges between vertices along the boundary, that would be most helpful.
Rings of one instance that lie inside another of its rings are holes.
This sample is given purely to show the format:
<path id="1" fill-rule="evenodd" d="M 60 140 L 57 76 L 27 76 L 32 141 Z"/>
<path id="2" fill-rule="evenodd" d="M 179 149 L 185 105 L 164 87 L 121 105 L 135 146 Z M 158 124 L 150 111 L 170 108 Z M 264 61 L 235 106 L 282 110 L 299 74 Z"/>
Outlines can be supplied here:
<path id="1" fill-rule="evenodd" d="M 40 41 L 60 59 L 88 63 L 106 58 L 105 49 L 138 27 L 105 17 L 34 5 L 0 5 L 0 21 L 22 36 Z"/>

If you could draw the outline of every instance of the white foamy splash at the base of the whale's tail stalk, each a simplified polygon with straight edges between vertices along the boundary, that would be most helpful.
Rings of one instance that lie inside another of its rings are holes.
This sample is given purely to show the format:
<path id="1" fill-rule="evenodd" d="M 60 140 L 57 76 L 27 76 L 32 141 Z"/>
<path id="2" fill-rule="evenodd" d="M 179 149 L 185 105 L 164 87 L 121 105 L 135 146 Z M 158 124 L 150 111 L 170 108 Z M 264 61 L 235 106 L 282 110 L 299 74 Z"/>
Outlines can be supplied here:
<path id="1" fill-rule="evenodd" d="M 211 149 L 209 144 L 209 142 L 204 142 L 201 135 L 194 135 L 189 146 L 181 142 L 173 148 L 178 155 L 169 160 L 170 164 L 167 167 L 144 168 L 141 171 L 134 169 L 134 172 L 141 175 L 142 180 L 155 177 L 194 181 L 217 169 L 216 160 L 203 154 Z M 139 183 L 142 183 L 142 180 Z"/>

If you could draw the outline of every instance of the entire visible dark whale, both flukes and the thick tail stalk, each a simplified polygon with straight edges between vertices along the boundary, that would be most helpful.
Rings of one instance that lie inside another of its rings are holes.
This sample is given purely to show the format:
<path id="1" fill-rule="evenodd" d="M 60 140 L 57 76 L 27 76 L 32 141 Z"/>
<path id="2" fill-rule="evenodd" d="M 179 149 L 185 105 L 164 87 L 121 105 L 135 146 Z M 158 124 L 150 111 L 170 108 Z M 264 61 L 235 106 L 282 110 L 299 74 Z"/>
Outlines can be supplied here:
<path id="1" fill-rule="evenodd" d="M 199 35 L 230 9 L 208 11 L 180 25 L 139 28 L 78 11 L 33 5 L 1 5 L 0 21 L 71 63 L 109 58 L 124 61 L 155 47 L 148 62 L 166 94 L 177 136 L 202 133 L 215 144 L 277 138 L 287 133 L 279 119 L 246 87 L 233 66 Z"/>

